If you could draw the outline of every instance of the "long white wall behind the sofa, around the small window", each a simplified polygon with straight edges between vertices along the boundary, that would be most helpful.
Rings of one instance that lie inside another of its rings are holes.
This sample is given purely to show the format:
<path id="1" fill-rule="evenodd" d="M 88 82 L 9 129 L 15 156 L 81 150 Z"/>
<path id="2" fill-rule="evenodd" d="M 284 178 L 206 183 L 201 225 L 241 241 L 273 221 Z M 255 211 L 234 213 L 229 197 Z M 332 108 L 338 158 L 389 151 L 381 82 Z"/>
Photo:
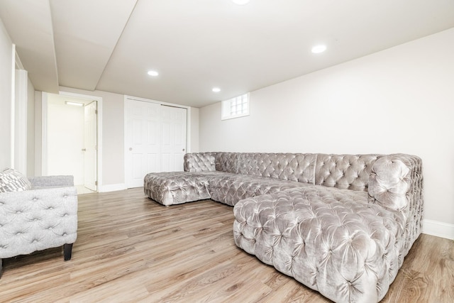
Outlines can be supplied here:
<path id="1" fill-rule="evenodd" d="M 453 54 L 451 28 L 251 92 L 245 118 L 206 106 L 200 150 L 419 155 L 424 217 L 454 232 Z"/>

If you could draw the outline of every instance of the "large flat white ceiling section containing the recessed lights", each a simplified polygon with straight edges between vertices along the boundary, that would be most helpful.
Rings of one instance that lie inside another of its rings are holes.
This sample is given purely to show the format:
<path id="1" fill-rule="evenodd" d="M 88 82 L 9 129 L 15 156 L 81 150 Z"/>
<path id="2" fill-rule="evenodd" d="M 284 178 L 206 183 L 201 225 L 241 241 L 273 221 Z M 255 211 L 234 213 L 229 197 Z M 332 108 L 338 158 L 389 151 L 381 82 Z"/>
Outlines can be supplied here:
<path id="1" fill-rule="evenodd" d="M 203 106 L 454 26 L 448 1 L 395 2 L 139 0 L 98 89 Z"/>

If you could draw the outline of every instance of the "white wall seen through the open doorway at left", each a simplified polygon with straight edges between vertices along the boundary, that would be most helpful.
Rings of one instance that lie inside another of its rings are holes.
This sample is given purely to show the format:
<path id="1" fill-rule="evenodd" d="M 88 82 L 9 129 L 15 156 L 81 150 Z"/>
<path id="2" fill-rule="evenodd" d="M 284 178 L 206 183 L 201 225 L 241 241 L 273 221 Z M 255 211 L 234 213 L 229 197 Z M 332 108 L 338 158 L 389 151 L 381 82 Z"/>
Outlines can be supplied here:
<path id="1" fill-rule="evenodd" d="M 48 175 L 73 175 L 84 184 L 84 108 L 48 94 Z"/>

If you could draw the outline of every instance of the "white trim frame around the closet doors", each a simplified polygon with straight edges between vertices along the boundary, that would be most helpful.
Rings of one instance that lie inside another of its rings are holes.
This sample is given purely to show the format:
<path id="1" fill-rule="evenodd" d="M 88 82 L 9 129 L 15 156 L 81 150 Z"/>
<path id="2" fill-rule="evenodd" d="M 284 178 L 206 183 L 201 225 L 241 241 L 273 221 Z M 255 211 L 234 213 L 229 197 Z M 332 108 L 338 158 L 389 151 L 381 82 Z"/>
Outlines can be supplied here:
<path id="1" fill-rule="evenodd" d="M 126 165 L 126 163 L 128 162 L 126 160 L 126 157 L 127 157 L 127 151 L 126 149 L 128 148 L 126 146 L 126 100 L 135 100 L 135 101 L 143 101 L 143 102 L 150 102 L 150 103 L 154 103 L 154 104 L 160 104 L 160 105 L 166 105 L 166 106 L 174 106 L 174 107 L 180 107 L 182 109 L 187 109 L 186 111 L 186 153 L 191 153 L 191 106 L 185 106 L 185 105 L 180 105 L 180 104 L 174 104 L 174 103 L 167 103 L 167 102 L 162 102 L 162 101 L 156 101 L 156 100 L 152 100 L 152 99 L 145 99 L 145 98 L 140 98 L 140 97 L 133 97 L 133 96 L 128 96 L 128 95 L 125 95 L 124 98 L 123 98 L 123 109 L 125 109 L 123 111 L 123 115 L 124 115 L 124 119 L 123 119 L 123 129 L 124 129 L 124 138 L 123 138 L 123 154 L 124 154 L 124 158 L 123 158 L 123 165 L 124 165 L 124 184 L 128 184 L 128 181 L 127 181 L 127 171 L 128 171 L 128 167 Z M 127 187 L 127 186 L 126 186 Z"/>

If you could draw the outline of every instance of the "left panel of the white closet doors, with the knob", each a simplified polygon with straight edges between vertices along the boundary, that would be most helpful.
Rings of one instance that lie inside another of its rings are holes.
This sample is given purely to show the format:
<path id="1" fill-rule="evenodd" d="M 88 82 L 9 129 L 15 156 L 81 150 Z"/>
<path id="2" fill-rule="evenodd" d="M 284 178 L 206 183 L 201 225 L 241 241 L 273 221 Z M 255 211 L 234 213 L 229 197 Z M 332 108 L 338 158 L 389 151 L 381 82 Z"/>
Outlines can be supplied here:
<path id="1" fill-rule="evenodd" d="M 160 104 L 126 99 L 126 186 L 142 187 L 148 172 L 160 172 Z"/>

